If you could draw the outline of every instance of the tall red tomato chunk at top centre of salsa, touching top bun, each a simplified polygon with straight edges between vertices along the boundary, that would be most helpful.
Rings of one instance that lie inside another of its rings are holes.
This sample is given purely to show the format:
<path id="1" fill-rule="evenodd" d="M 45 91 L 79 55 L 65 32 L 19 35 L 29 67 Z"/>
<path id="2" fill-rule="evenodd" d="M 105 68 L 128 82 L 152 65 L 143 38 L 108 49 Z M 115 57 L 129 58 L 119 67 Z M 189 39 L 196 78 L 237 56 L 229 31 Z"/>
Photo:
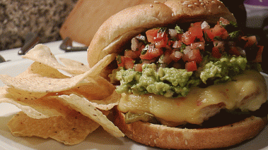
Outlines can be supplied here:
<path id="1" fill-rule="evenodd" d="M 196 39 L 202 40 L 202 38 L 203 38 L 203 32 L 201 29 L 201 22 L 192 23 L 189 30 L 182 35 L 182 42 L 187 45 L 190 45 Z"/>

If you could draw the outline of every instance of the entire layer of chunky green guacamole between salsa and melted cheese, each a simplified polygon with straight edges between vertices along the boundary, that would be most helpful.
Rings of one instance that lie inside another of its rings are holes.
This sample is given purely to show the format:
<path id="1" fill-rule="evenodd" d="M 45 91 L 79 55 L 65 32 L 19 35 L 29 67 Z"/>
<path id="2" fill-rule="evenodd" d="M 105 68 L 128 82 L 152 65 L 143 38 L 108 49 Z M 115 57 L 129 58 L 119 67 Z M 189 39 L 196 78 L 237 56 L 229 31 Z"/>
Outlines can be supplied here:
<path id="1" fill-rule="evenodd" d="M 110 75 L 112 81 L 120 81 L 117 93 L 159 94 L 166 97 L 186 96 L 191 87 L 207 84 L 207 81 L 226 82 L 231 75 L 243 73 L 247 59 L 242 56 L 206 57 L 196 72 L 185 69 L 157 68 L 156 64 L 142 65 L 142 71 L 118 68 Z"/>

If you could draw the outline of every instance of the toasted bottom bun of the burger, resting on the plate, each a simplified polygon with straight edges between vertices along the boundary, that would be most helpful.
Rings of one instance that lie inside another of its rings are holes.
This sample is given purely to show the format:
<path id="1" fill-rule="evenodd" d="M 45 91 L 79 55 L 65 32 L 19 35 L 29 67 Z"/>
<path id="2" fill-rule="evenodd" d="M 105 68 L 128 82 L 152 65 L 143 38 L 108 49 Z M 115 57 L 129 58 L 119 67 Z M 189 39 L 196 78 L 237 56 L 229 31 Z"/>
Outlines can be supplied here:
<path id="1" fill-rule="evenodd" d="M 124 122 L 124 113 L 117 111 L 115 125 L 130 139 L 162 149 L 215 149 L 232 146 L 255 137 L 267 124 L 267 116 L 245 118 L 221 127 L 187 129 L 137 121 Z"/>

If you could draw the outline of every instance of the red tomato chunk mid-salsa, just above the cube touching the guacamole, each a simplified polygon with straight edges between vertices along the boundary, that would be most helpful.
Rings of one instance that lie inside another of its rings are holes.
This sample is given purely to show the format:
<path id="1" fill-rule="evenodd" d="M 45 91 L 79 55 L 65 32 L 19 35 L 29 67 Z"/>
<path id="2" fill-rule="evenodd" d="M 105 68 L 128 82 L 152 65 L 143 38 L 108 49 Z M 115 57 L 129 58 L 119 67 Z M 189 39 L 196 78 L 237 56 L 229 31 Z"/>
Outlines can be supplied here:
<path id="1" fill-rule="evenodd" d="M 183 61 L 195 61 L 196 63 L 201 63 L 202 56 L 200 54 L 199 49 L 191 49 L 190 51 L 187 51 L 186 54 L 182 57 Z"/>

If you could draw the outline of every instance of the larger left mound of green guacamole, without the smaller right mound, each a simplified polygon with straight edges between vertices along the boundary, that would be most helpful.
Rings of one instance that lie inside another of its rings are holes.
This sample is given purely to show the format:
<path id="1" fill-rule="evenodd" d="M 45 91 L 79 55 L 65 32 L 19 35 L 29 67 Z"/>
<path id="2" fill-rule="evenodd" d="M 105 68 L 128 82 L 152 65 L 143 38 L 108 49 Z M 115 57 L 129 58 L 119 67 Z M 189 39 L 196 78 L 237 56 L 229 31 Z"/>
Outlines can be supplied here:
<path id="1" fill-rule="evenodd" d="M 121 69 L 114 73 L 113 77 L 120 80 L 116 92 L 127 94 L 153 93 L 167 97 L 186 96 L 190 91 L 187 83 L 193 80 L 192 72 L 175 68 L 159 68 L 157 71 L 154 63 L 142 65 L 141 72 L 134 71 L 134 69 Z M 194 82 L 199 83 L 199 80 Z"/>

